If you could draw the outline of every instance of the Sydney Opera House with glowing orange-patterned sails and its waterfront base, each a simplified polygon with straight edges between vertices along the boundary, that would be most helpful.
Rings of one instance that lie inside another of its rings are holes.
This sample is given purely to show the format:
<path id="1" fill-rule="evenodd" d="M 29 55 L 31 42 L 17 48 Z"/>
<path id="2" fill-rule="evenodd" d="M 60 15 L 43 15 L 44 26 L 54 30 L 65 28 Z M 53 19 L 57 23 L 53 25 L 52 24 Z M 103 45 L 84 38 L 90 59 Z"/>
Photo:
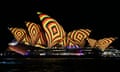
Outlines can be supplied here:
<path id="1" fill-rule="evenodd" d="M 111 44 L 117 37 L 101 39 L 90 38 L 92 30 L 86 28 L 66 32 L 54 18 L 42 12 L 37 12 L 40 24 L 25 22 L 26 28 L 8 27 L 14 40 L 8 43 L 5 56 L 97 56 L 119 57 L 119 50 Z"/>

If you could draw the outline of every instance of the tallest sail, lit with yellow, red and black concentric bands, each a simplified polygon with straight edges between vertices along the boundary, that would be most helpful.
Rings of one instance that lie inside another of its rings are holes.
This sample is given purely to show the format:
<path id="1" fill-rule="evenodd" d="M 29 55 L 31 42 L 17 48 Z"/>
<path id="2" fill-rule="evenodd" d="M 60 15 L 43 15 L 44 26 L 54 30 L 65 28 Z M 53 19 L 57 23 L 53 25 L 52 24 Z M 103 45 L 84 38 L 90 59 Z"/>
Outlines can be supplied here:
<path id="1" fill-rule="evenodd" d="M 42 26 L 45 30 L 48 47 L 51 48 L 56 44 L 63 44 L 65 46 L 65 32 L 62 26 L 50 16 L 38 13 L 39 18 L 42 21 Z"/>

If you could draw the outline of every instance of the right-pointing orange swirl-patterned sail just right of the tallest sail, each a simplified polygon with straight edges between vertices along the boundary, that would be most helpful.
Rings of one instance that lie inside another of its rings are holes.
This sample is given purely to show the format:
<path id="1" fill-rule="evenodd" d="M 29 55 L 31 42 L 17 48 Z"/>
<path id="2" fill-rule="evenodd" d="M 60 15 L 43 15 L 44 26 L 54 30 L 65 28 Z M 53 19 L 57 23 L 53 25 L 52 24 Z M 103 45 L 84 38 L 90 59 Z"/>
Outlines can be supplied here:
<path id="1" fill-rule="evenodd" d="M 90 35 L 90 32 L 89 29 L 73 30 L 68 33 L 68 37 L 79 44 L 79 46 L 83 47 L 85 45 L 85 39 Z"/>

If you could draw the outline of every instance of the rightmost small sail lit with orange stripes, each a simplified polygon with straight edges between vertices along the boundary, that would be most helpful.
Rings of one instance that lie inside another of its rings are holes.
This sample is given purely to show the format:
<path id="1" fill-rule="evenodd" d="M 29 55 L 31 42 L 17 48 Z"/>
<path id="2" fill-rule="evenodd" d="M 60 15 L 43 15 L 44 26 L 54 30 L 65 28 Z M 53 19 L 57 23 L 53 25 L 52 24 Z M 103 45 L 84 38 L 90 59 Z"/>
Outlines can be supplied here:
<path id="1" fill-rule="evenodd" d="M 100 39 L 97 41 L 96 47 L 98 47 L 102 51 L 104 51 L 115 40 L 116 40 L 116 38 L 114 38 L 114 37 Z"/>

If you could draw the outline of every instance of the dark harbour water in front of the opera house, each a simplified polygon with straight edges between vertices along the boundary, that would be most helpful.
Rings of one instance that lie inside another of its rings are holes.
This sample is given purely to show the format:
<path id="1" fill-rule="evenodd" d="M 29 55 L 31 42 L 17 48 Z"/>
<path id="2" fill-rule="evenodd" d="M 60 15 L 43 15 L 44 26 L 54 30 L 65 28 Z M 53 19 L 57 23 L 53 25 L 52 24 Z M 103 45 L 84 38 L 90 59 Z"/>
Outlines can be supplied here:
<path id="1" fill-rule="evenodd" d="M 119 58 L 3 58 L 0 72 L 119 72 Z"/>

